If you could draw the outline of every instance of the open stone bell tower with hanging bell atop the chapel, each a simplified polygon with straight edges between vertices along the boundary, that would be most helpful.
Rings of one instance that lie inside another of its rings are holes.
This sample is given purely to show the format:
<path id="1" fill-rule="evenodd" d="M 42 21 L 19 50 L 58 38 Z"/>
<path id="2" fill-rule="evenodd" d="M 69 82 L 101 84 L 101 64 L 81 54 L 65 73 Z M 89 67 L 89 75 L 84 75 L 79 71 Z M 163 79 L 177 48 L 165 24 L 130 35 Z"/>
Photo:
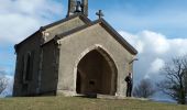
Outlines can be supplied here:
<path id="1" fill-rule="evenodd" d="M 68 0 L 67 18 L 75 14 L 82 13 L 88 16 L 88 0 Z"/>

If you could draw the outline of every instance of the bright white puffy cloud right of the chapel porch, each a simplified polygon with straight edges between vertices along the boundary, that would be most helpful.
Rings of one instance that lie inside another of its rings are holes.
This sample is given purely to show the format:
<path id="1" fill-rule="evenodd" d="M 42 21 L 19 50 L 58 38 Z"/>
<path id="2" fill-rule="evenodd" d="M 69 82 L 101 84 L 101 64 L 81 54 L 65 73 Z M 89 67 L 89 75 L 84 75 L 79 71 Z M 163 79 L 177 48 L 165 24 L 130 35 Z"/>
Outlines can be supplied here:
<path id="1" fill-rule="evenodd" d="M 187 38 L 168 38 L 161 33 L 142 31 L 132 34 L 119 32 L 138 51 L 139 61 L 134 62 L 134 81 L 151 78 L 156 81 L 161 77 L 161 68 L 170 58 L 187 54 Z"/>

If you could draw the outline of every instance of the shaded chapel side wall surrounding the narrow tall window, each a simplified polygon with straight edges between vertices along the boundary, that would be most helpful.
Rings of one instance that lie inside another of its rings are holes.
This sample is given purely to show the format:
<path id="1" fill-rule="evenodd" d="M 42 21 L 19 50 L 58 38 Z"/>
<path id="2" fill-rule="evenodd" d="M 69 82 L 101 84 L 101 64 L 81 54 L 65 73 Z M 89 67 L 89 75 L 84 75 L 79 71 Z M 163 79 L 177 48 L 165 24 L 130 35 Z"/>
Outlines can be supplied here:
<path id="1" fill-rule="evenodd" d="M 37 75 L 38 75 L 38 67 L 40 67 L 40 54 L 41 54 L 41 37 L 42 34 L 36 32 L 26 41 L 22 42 L 16 47 L 16 67 L 15 67 L 15 75 L 14 75 L 14 86 L 13 86 L 13 96 L 28 96 L 36 94 L 37 88 Z M 28 53 L 33 54 L 33 62 L 32 65 L 32 75 L 31 80 L 24 82 L 23 80 L 23 64 L 24 57 Z M 28 85 L 28 87 L 24 87 Z"/>

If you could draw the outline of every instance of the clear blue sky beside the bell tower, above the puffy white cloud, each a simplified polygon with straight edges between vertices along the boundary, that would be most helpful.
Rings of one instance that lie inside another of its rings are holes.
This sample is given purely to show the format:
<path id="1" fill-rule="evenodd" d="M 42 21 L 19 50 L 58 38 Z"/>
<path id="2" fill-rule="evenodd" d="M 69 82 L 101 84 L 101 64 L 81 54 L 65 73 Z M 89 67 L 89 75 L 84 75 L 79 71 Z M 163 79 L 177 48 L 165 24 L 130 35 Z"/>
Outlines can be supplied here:
<path id="1" fill-rule="evenodd" d="M 67 0 L 57 1 L 64 6 L 65 16 Z M 101 9 L 117 30 L 136 33 L 148 29 L 168 37 L 187 37 L 186 6 L 187 0 L 89 0 L 89 18 L 97 19 L 95 13 Z"/>

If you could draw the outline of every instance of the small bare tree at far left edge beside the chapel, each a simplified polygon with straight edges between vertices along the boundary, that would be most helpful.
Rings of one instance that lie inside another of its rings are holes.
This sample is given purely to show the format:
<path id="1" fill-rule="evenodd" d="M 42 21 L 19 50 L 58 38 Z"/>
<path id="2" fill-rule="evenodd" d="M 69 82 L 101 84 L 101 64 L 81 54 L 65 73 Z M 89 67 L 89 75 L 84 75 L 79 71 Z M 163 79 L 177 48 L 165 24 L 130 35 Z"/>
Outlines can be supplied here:
<path id="1" fill-rule="evenodd" d="M 3 75 L 0 75 L 0 95 L 8 86 L 8 78 Z"/>

